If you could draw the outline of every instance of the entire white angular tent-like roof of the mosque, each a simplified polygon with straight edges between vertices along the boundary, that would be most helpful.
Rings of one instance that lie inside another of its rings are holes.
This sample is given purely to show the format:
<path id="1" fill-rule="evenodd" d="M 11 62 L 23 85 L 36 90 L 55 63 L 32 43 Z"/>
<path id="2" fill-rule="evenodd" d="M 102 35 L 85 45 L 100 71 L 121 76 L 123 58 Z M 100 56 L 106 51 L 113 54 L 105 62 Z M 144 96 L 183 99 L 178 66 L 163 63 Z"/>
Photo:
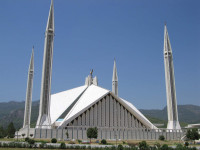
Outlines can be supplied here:
<path id="1" fill-rule="evenodd" d="M 106 95 L 111 94 L 119 103 L 121 103 L 129 112 L 131 112 L 145 126 L 156 129 L 156 127 L 130 102 L 116 96 L 111 91 L 96 85 L 81 86 L 72 90 L 54 94 L 51 97 L 51 120 L 54 123 L 59 116 L 70 106 L 70 110 L 61 121 L 59 127 L 70 123 L 92 105 L 97 103 Z M 75 102 L 75 103 L 74 103 Z M 73 105 L 72 105 L 73 104 Z M 54 109 L 54 110 L 52 110 Z"/>

